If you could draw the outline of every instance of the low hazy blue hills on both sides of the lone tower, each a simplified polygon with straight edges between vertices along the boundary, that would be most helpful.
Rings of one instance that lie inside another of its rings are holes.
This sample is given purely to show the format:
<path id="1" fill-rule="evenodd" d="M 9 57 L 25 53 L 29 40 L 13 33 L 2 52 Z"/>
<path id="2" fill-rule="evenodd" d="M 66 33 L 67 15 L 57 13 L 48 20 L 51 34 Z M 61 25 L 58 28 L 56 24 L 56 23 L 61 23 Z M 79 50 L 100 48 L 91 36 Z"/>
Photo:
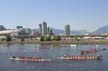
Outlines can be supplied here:
<path id="1" fill-rule="evenodd" d="M 53 29 L 54 34 L 65 34 L 64 30 L 61 29 Z M 71 34 L 73 35 L 84 35 L 84 34 L 89 34 L 90 32 L 87 30 L 72 30 Z"/>

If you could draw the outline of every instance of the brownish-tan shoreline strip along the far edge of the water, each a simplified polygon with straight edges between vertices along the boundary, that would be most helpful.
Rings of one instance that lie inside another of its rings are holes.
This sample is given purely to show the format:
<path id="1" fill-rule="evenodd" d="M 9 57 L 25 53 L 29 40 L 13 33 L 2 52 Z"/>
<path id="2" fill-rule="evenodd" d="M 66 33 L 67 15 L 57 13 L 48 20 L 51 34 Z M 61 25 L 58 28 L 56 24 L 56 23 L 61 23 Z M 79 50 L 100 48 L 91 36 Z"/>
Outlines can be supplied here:
<path id="1" fill-rule="evenodd" d="M 80 40 L 80 41 L 3 41 L 0 44 L 108 44 L 108 40 Z"/>

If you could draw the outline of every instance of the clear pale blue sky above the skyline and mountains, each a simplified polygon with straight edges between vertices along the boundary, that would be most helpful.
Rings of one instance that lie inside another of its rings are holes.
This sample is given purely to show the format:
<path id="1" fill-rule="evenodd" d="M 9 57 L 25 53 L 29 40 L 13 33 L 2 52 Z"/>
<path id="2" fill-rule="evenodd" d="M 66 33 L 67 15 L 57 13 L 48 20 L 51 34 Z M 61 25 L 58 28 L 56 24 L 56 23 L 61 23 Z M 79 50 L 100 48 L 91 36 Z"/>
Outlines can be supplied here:
<path id="1" fill-rule="evenodd" d="M 96 29 L 108 25 L 108 0 L 0 0 L 0 25 L 6 28 L 49 27 L 71 30 Z"/>

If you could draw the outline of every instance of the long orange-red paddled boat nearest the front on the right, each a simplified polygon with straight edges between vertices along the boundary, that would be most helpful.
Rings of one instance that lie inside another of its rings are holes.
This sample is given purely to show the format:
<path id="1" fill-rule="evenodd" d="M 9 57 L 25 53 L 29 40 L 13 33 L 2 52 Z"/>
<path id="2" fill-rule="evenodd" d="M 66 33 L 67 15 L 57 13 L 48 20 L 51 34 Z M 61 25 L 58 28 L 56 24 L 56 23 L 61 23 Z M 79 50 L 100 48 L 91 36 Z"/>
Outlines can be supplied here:
<path id="1" fill-rule="evenodd" d="M 97 56 L 61 56 L 58 57 L 57 59 L 62 59 L 62 60 L 101 60 L 102 56 L 97 55 Z"/>

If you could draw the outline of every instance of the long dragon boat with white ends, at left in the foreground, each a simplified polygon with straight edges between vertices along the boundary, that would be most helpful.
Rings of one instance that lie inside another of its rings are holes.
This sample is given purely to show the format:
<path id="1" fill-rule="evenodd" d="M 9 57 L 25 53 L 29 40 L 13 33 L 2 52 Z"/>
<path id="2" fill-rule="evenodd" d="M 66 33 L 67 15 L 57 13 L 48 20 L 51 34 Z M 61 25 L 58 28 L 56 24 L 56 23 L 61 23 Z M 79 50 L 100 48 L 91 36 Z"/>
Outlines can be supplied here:
<path id="1" fill-rule="evenodd" d="M 15 61 L 28 61 L 28 62 L 49 62 L 51 59 L 45 59 L 41 57 L 16 57 L 13 56 L 9 58 L 10 60 L 15 60 Z"/>

